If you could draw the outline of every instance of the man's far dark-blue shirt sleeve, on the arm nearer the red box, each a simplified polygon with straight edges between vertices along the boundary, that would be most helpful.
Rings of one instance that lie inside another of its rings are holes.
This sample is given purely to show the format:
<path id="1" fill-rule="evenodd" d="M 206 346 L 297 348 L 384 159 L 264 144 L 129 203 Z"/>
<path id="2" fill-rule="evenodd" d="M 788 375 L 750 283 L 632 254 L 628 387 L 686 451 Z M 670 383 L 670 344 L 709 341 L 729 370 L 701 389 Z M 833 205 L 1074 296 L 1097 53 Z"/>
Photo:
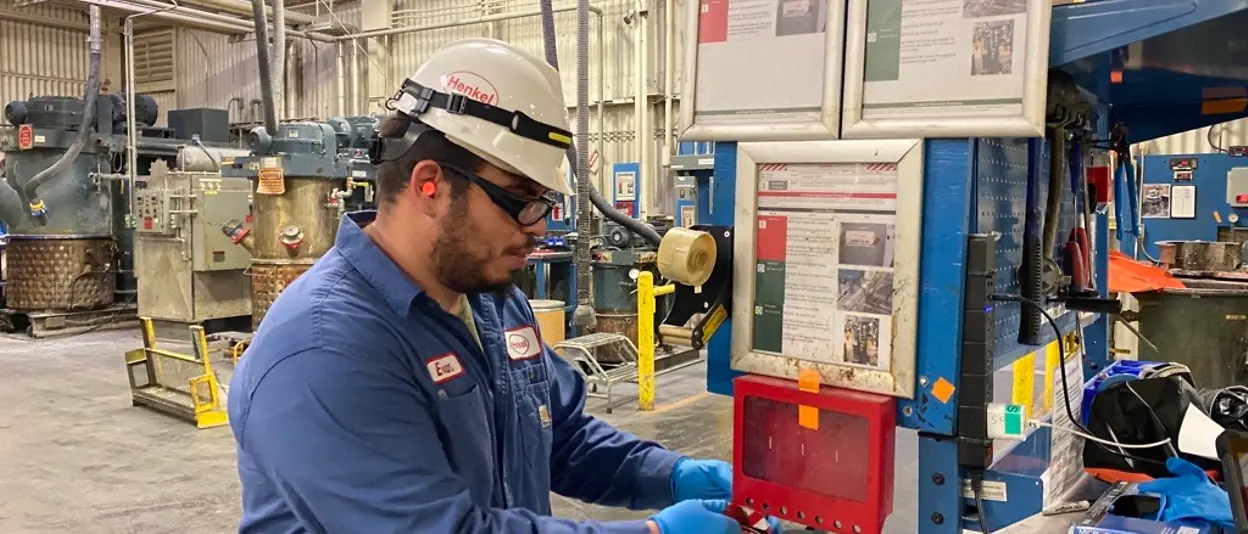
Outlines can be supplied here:
<path id="1" fill-rule="evenodd" d="M 554 368 L 550 489 L 633 510 L 670 507 L 671 469 L 681 455 L 585 414 L 584 378 L 550 347 L 545 357 Z"/>

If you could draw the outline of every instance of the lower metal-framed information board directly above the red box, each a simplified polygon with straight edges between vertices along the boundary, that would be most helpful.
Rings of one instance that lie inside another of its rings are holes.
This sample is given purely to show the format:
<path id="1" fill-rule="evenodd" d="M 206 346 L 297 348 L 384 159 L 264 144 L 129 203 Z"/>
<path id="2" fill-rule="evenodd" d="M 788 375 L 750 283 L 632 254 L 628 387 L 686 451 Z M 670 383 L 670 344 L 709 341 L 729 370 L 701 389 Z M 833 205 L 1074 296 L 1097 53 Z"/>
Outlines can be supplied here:
<path id="1" fill-rule="evenodd" d="M 738 145 L 734 369 L 914 397 L 922 147 Z"/>

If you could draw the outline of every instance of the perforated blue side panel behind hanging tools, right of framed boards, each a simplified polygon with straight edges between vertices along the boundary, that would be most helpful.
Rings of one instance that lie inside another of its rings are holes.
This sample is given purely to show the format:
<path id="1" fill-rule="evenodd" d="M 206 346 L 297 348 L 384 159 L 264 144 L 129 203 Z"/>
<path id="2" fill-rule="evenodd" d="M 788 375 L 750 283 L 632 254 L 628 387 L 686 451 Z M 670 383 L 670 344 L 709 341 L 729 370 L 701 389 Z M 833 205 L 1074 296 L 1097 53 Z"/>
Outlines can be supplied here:
<path id="1" fill-rule="evenodd" d="M 1048 196 L 1048 143 L 1040 138 L 980 138 L 976 140 L 975 157 L 975 232 L 998 235 L 996 292 L 1020 294 L 1018 267 L 1022 263 L 1022 243 L 1027 230 L 1027 216 L 1032 212 L 1033 231 L 1042 231 L 1040 216 L 1045 212 Z M 1031 163 L 1031 165 L 1028 165 Z M 1030 170 L 1030 173 L 1028 173 Z M 1027 201 L 1028 177 L 1032 206 Z M 1070 193 L 1070 177 L 1063 176 L 1062 220 L 1057 230 L 1057 242 L 1065 243 L 1076 223 L 1076 210 Z M 1057 247 L 1055 247 L 1057 248 Z M 1018 343 L 1018 302 L 998 302 L 993 309 L 993 368 L 1000 369 L 1021 358 L 1033 346 Z M 1075 317 L 1058 317 L 1063 331 L 1073 327 Z M 1041 323 L 1041 344 L 1056 337 L 1047 322 Z"/>

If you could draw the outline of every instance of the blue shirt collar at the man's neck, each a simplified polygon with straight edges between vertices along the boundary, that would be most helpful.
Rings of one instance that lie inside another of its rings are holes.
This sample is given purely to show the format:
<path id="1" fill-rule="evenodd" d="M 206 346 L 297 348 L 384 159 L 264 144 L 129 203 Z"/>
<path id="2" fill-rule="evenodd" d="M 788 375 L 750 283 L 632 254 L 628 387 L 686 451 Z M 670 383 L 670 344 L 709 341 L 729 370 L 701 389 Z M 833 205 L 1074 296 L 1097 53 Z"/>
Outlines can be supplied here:
<path id="1" fill-rule="evenodd" d="M 376 218 L 376 211 L 347 213 L 338 223 L 334 248 L 382 293 L 386 303 L 396 313 L 407 316 L 412 311 L 413 301 L 424 293 L 424 289 L 364 233 L 363 227 Z"/>

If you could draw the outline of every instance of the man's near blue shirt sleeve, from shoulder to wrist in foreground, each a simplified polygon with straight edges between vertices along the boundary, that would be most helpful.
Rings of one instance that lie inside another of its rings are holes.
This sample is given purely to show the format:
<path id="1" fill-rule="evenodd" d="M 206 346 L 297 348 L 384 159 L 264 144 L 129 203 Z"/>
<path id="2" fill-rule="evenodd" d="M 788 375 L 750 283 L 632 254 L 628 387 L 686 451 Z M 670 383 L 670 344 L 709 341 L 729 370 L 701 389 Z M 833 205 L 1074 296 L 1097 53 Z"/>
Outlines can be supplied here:
<path id="1" fill-rule="evenodd" d="M 644 520 L 573 522 L 482 508 L 451 468 L 411 372 L 314 349 L 252 393 L 238 444 L 312 533 L 644 534 Z"/>

